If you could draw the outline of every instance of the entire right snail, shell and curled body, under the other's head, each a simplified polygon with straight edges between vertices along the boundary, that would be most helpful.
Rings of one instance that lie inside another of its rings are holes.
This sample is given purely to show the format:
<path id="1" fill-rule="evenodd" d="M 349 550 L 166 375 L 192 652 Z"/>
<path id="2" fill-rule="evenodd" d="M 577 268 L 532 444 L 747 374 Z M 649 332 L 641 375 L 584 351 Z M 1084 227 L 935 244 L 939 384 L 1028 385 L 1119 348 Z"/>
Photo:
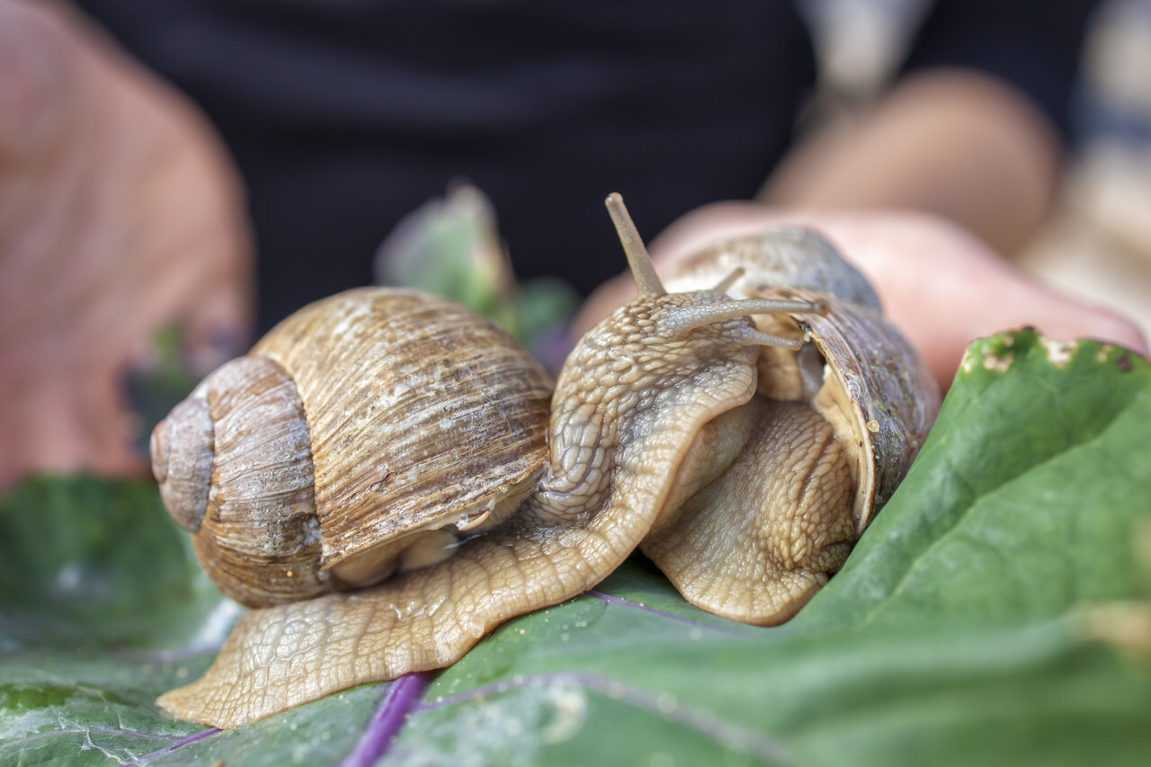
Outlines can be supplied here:
<path id="1" fill-rule="evenodd" d="M 773 625 L 846 561 L 927 438 L 939 390 L 867 281 L 814 231 L 718 244 L 668 284 L 691 290 L 735 268 L 733 297 L 824 299 L 828 311 L 755 317 L 765 333 L 810 343 L 762 349 L 748 443 L 641 548 L 694 605 Z"/>

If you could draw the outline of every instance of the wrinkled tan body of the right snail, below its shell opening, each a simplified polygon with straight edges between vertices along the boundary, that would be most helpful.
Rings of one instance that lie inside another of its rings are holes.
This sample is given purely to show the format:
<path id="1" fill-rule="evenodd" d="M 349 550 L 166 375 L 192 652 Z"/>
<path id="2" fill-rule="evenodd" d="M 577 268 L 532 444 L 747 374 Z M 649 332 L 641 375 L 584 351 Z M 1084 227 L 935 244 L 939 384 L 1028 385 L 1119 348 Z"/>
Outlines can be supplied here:
<path id="1" fill-rule="evenodd" d="M 831 424 L 806 404 L 755 397 L 745 417 L 753 431 L 734 463 L 641 548 L 693 605 L 775 625 L 847 560 L 854 484 Z"/>

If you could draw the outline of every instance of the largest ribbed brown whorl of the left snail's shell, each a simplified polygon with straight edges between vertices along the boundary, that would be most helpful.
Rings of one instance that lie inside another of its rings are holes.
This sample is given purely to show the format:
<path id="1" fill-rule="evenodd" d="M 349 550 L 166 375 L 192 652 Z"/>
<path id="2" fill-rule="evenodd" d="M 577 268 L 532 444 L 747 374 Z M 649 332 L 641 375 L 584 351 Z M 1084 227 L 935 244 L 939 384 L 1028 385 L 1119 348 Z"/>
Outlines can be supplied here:
<path id="1" fill-rule="evenodd" d="M 291 371 L 305 403 L 322 567 L 485 514 L 494 524 L 542 471 L 551 378 L 449 301 L 349 290 L 299 310 L 253 352 Z"/>

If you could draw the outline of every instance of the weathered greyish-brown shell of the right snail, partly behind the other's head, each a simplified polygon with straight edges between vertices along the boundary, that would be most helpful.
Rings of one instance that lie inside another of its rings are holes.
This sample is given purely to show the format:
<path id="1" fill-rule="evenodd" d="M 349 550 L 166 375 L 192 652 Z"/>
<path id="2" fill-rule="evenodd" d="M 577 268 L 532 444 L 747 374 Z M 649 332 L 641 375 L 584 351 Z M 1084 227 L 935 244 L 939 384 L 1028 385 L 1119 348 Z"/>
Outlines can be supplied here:
<path id="1" fill-rule="evenodd" d="M 935 423 L 939 390 L 922 357 L 883 317 L 867 279 L 817 233 L 782 228 L 677 263 L 670 290 L 700 289 L 734 269 L 735 298 L 828 299 L 828 313 L 757 316 L 761 331 L 806 339 L 800 352 L 763 348 L 760 394 L 809 402 L 854 456 L 852 516 L 862 531 L 907 473 Z"/>

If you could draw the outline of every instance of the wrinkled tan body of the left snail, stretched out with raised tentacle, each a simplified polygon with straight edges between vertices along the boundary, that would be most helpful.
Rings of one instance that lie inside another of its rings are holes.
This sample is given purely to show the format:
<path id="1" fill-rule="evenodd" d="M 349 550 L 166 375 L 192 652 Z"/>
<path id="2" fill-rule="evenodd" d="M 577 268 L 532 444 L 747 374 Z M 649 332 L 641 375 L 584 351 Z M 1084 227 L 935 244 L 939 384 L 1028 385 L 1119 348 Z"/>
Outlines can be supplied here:
<path id="1" fill-rule="evenodd" d="M 612 204 L 618 220 L 622 203 Z M 740 411 L 755 394 L 767 336 L 748 314 L 818 306 L 669 295 L 642 264 L 646 251 L 634 250 L 641 295 L 565 363 L 547 462 L 513 514 L 451 556 L 378 586 L 249 612 L 204 677 L 159 704 L 234 727 L 353 684 L 448 666 L 510 617 L 594 586 L 666 509 L 719 476 L 750 433 Z"/>

